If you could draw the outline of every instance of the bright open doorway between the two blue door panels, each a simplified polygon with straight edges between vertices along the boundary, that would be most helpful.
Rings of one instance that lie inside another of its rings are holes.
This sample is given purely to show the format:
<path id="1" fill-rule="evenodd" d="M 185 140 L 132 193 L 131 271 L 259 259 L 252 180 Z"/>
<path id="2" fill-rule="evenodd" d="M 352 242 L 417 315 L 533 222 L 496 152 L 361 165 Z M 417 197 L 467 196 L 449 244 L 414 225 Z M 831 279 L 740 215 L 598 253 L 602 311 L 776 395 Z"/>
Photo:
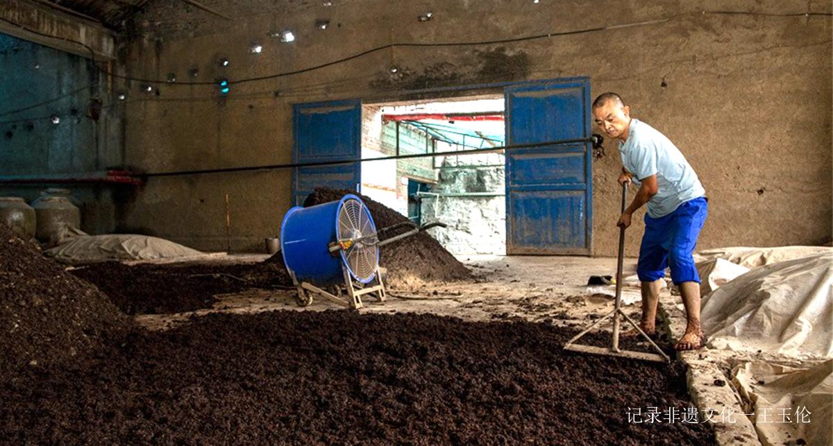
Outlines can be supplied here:
<path id="1" fill-rule="evenodd" d="M 455 255 L 506 253 L 502 94 L 362 104 L 362 159 L 441 154 L 362 162 L 362 194 L 431 232 Z"/>

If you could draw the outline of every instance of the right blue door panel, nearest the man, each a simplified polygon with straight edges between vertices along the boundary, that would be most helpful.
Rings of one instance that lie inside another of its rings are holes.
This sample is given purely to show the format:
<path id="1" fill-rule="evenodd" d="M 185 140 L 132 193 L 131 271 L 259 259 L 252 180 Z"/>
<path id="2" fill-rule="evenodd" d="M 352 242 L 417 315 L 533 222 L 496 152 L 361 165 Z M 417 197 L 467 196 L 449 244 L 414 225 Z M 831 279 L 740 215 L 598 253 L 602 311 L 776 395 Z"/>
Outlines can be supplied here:
<path id="1" fill-rule="evenodd" d="M 506 88 L 508 145 L 590 136 L 586 78 Z M 590 255 L 589 142 L 506 151 L 506 254 Z"/>

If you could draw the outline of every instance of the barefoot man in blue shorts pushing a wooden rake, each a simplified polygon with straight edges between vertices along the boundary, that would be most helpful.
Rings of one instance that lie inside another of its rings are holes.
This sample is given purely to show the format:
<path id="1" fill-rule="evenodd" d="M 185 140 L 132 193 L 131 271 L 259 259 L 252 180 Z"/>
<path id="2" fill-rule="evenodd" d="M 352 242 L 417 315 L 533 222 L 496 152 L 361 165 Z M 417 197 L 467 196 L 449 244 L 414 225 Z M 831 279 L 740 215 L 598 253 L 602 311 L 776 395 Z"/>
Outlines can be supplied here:
<path id="1" fill-rule="evenodd" d="M 619 140 L 622 173 L 619 184 L 632 182 L 636 192 L 617 225 L 628 227 L 631 216 L 648 205 L 645 235 L 639 250 L 636 274 L 642 285 L 641 329 L 654 334 L 656 305 L 666 266 L 680 288 L 686 307 L 686 334 L 675 348 L 701 348 L 700 276 L 692 253 L 708 213 L 706 190 L 679 149 L 645 122 L 631 118 L 631 109 L 616 93 L 600 95 L 593 102 L 593 117 L 601 131 Z"/>

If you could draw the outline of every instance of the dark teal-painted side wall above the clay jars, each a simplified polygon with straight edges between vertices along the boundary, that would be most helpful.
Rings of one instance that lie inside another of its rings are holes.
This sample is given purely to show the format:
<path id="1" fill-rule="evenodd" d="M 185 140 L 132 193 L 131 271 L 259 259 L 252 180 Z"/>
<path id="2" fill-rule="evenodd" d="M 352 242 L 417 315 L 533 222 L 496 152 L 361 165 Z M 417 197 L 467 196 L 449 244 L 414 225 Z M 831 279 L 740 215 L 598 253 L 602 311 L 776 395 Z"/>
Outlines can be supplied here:
<path id="1" fill-rule="evenodd" d="M 86 58 L 0 34 L 0 79 L 0 178 L 86 176 L 121 165 L 121 110 L 104 106 L 110 102 L 106 84 Z M 93 97 L 102 100 L 97 119 L 90 113 Z M 59 185 L 0 184 L 0 195 L 32 201 L 47 186 Z M 122 201 L 129 194 L 124 186 L 61 186 L 82 201 L 83 230 L 116 229 L 113 196 Z"/>

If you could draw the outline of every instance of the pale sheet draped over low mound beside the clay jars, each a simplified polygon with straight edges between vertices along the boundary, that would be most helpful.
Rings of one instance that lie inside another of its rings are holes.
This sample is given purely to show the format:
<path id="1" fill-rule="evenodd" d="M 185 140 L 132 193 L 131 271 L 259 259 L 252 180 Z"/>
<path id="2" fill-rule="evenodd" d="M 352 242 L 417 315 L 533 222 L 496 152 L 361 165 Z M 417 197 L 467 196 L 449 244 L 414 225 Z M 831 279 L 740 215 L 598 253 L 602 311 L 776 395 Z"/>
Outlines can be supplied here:
<path id="1" fill-rule="evenodd" d="M 83 265 L 106 260 L 156 260 L 202 255 L 170 240 L 136 234 L 82 235 L 46 250 L 55 260 Z"/>

